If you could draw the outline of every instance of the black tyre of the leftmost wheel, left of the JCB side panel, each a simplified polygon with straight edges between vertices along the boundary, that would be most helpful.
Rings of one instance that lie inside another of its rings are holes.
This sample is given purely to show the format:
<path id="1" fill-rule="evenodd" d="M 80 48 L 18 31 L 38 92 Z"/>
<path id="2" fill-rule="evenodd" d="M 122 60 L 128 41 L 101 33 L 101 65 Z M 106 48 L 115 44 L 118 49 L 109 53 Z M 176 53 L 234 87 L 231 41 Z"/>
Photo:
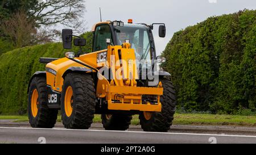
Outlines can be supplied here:
<path id="1" fill-rule="evenodd" d="M 38 111 L 33 116 L 31 98 L 35 89 L 38 91 Z M 32 128 L 53 128 L 56 123 L 58 110 L 48 108 L 46 92 L 46 77 L 34 77 L 28 91 L 28 119 Z"/>

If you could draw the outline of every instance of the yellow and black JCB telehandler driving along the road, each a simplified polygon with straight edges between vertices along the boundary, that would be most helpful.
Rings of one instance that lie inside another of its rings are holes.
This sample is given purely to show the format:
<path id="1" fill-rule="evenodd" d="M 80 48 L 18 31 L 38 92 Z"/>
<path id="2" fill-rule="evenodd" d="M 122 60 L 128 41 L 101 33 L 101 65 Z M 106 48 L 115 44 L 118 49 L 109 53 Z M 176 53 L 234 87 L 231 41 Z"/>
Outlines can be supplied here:
<path id="1" fill-rule="evenodd" d="M 61 110 L 65 128 L 88 129 L 94 114 L 101 114 L 105 129 L 126 130 L 132 115 L 139 114 L 144 131 L 167 132 L 176 98 L 171 75 L 159 69 L 165 58 L 156 57 L 155 25 L 159 37 L 165 37 L 162 23 L 100 22 L 92 28 L 92 52 L 40 58 L 46 71 L 36 72 L 28 85 L 31 127 L 54 127 Z M 62 31 L 62 39 L 65 49 L 86 42 L 69 29 Z"/>

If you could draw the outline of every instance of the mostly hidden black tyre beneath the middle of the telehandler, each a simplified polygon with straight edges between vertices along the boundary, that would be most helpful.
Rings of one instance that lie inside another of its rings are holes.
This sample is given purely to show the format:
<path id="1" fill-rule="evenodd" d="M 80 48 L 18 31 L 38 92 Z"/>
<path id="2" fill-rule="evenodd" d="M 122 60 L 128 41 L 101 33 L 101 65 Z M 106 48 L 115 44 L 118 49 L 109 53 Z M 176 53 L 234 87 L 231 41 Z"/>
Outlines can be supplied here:
<path id="1" fill-rule="evenodd" d="M 105 114 L 101 115 L 102 124 L 106 130 L 125 131 L 129 128 L 132 118 L 130 114 L 113 114 L 110 118 Z"/>

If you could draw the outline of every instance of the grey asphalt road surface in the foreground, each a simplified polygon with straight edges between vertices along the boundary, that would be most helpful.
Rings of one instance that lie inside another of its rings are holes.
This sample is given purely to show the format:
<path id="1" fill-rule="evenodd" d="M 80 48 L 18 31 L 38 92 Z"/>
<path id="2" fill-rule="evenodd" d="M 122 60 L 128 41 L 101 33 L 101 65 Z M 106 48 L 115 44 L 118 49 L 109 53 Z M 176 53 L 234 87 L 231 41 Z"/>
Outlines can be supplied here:
<path id="1" fill-rule="evenodd" d="M 109 143 L 109 144 L 210 144 L 256 143 L 256 136 L 204 133 L 158 133 L 142 131 L 74 130 L 0 127 L 0 143 Z"/>

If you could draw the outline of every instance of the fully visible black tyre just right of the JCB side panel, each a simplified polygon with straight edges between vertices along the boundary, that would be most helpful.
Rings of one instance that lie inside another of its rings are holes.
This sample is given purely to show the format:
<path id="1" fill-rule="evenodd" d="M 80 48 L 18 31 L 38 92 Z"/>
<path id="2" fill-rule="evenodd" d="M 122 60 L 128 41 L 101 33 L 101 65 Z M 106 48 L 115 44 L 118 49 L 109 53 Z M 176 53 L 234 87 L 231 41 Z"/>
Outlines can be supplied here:
<path id="1" fill-rule="evenodd" d="M 73 90 L 72 114 L 67 116 L 65 112 L 65 93 L 71 86 Z M 61 93 L 61 118 L 65 128 L 88 129 L 93 123 L 96 93 L 94 81 L 90 74 L 69 73 L 64 79 Z"/>

